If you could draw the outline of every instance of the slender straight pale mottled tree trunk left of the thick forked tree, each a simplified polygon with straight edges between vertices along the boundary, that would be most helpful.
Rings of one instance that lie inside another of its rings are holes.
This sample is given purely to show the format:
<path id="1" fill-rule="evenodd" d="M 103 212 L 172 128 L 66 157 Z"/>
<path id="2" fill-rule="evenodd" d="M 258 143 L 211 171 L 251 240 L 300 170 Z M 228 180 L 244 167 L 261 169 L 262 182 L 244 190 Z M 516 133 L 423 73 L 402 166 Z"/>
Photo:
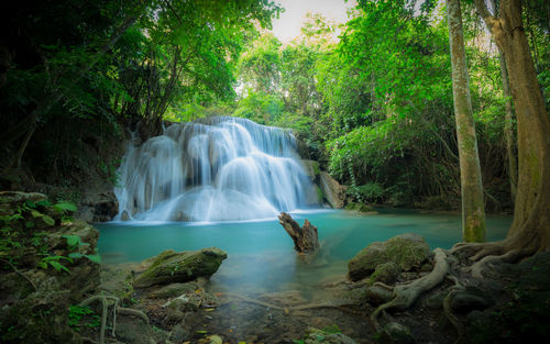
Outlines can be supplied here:
<path id="1" fill-rule="evenodd" d="M 483 185 L 470 98 L 460 0 L 447 0 L 447 15 L 451 46 L 452 93 L 460 157 L 462 240 L 465 242 L 484 242 Z"/>

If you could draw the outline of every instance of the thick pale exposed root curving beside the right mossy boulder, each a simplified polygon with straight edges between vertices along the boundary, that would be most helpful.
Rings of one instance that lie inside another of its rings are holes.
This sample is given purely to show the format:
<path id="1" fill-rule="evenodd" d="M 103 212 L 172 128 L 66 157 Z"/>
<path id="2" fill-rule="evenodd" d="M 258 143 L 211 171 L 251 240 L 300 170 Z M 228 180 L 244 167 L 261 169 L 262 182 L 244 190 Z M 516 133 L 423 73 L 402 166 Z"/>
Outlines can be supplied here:
<path id="1" fill-rule="evenodd" d="M 382 331 L 382 326 L 378 323 L 380 312 L 387 309 L 407 309 L 416 301 L 416 299 L 425 291 L 439 285 L 449 274 L 450 267 L 447 254 L 441 248 L 433 249 L 435 253 L 435 266 L 433 270 L 424 277 L 415 279 L 414 281 L 405 285 L 397 285 L 395 287 L 389 287 L 380 282 L 374 285 L 382 286 L 384 288 L 392 289 L 394 291 L 394 299 L 391 301 L 378 306 L 371 314 L 371 323 L 376 332 Z"/>

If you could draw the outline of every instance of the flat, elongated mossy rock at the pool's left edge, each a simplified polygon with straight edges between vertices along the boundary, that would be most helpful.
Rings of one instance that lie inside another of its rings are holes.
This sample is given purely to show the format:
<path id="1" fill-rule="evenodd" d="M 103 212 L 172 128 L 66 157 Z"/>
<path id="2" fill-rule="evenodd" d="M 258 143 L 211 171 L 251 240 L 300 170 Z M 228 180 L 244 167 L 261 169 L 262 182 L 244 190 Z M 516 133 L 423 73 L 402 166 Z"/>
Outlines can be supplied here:
<path id="1" fill-rule="evenodd" d="M 164 251 L 135 279 L 134 287 L 187 282 L 199 277 L 210 277 L 227 257 L 228 254 L 217 247 L 186 252 Z"/>

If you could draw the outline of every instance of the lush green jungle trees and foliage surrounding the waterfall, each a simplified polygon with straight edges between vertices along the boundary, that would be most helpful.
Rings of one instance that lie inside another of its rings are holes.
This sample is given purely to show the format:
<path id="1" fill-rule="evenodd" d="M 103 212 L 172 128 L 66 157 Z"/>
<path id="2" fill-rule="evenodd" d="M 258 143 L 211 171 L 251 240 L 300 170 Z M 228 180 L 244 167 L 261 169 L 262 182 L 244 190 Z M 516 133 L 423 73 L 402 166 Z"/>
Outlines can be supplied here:
<path id="1" fill-rule="evenodd" d="M 461 10 L 477 206 L 515 211 L 510 233 L 538 232 L 520 241 L 548 247 L 549 4 L 449 3 Z M 268 0 L 2 8 L 2 169 L 68 182 L 69 170 L 87 168 L 84 143 L 101 151 L 136 123 L 147 136 L 163 121 L 229 114 L 292 129 L 302 155 L 358 201 L 460 209 L 470 191 L 447 7 L 360 0 L 345 24 L 311 13 L 285 44 L 268 31 L 282 11 Z"/>

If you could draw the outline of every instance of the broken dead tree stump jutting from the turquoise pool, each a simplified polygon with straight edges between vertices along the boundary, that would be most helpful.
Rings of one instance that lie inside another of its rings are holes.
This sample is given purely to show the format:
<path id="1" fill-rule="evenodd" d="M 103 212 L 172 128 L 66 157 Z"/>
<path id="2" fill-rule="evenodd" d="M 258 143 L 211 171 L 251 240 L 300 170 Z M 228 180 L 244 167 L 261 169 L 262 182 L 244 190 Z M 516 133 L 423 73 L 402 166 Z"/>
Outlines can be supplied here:
<path id="1" fill-rule="evenodd" d="M 298 222 L 294 221 L 289 214 L 282 212 L 280 215 L 278 215 L 278 222 L 293 238 L 294 249 L 299 254 L 309 256 L 315 254 L 319 248 L 317 228 L 308 220 L 306 220 L 304 226 L 300 228 Z"/>

